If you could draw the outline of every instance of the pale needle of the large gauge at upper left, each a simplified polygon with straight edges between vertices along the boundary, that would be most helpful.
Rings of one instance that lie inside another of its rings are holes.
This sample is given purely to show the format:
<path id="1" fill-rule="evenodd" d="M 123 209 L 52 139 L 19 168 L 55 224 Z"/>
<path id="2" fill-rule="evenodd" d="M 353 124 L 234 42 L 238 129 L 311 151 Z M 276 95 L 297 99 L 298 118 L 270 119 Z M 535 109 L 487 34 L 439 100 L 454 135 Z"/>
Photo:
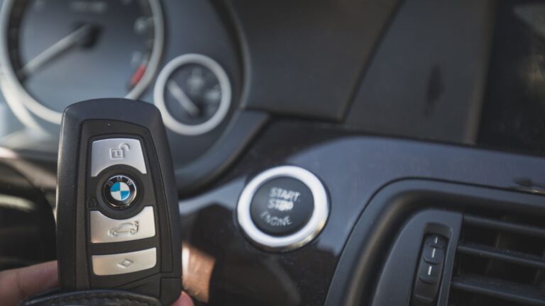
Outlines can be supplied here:
<path id="1" fill-rule="evenodd" d="M 19 77 L 23 78 L 33 74 L 36 70 L 42 67 L 45 63 L 53 60 L 53 58 L 60 55 L 62 52 L 77 45 L 78 42 L 82 42 L 87 36 L 92 33 L 93 27 L 89 24 L 80 26 L 74 32 L 66 35 L 61 40 L 55 42 L 51 47 L 43 50 L 38 56 L 34 57 L 25 66 L 19 70 Z"/>

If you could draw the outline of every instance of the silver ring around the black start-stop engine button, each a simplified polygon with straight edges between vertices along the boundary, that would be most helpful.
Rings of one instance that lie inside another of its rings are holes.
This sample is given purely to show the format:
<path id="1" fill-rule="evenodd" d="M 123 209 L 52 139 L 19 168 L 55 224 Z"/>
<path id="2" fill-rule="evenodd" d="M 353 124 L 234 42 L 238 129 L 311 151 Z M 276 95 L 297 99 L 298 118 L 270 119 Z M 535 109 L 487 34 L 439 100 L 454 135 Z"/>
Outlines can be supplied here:
<path id="1" fill-rule="evenodd" d="M 290 177 L 307 185 L 312 191 L 314 210 L 307 224 L 297 232 L 275 237 L 255 226 L 251 217 L 251 203 L 260 186 L 279 177 Z M 256 244 L 272 251 L 290 251 L 308 244 L 321 232 L 329 216 L 329 200 L 324 185 L 312 172 L 298 166 L 278 166 L 255 176 L 246 185 L 238 199 L 237 216 L 243 232 Z"/>

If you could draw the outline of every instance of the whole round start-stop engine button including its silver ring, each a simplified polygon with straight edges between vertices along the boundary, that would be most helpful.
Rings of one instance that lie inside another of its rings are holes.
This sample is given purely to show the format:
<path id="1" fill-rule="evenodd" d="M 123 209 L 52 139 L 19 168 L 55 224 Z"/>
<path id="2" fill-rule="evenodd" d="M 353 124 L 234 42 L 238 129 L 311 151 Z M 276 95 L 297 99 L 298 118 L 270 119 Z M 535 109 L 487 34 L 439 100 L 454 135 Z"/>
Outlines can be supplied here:
<path id="1" fill-rule="evenodd" d="M 238 223 L 246 236 L 272 251 L 311 242 L 328 215 L 328 196 L 321 181 L 297 166 L 278 166 L 255 176 L 237 206 Z"/>

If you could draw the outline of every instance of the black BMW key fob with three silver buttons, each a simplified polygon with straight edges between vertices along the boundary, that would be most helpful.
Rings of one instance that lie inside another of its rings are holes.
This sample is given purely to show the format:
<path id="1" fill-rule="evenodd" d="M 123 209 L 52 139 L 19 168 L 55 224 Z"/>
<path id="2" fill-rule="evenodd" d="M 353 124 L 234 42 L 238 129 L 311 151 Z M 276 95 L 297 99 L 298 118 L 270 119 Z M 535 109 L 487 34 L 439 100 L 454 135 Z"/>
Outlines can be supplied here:
<path id="1" fill-rule="evenodd" d="M 180 296 L 180 214 L 160 112 L 120 98 L 69 106 L 58 160 L 61 290 Z"/>

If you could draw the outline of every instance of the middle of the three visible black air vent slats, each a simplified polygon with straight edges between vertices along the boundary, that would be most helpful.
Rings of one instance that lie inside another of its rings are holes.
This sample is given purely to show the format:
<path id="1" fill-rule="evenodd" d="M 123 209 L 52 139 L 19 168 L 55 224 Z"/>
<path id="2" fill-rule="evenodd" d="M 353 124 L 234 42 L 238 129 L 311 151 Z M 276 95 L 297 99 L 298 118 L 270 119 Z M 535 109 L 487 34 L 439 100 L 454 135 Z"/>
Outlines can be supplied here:
<path id="1" fill-rule="evenodd" d="M 484 257 L 487 259 L 508 261 L 510 263 L 515 263 L 530 268 L 545 269 L 545 259 L 518 251 L 496 249 L 491 246 L 484 246 L 480 244 L 461 243 L 458 244 L 458 252 Z"/>

